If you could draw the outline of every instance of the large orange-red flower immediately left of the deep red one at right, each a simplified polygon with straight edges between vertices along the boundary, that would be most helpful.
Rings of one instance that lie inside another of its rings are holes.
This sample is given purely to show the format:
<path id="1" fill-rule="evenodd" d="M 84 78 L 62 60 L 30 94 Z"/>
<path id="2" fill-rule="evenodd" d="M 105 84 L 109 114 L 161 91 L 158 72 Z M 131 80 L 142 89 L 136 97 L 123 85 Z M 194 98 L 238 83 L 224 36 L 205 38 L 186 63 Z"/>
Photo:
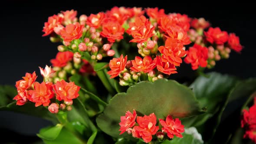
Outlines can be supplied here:
<path id="1" fill-rule="evenodd" d="M 167 38 L 165 41 L 165 46 L 160 46 L 158 50 L 163 54 L 162 61 L 170 62 L 175 66 L 180 66 L 182 59 L 181 57 L 186 55 L 184 46 L 181 43 L 177 43 L 171 38 Z"/>

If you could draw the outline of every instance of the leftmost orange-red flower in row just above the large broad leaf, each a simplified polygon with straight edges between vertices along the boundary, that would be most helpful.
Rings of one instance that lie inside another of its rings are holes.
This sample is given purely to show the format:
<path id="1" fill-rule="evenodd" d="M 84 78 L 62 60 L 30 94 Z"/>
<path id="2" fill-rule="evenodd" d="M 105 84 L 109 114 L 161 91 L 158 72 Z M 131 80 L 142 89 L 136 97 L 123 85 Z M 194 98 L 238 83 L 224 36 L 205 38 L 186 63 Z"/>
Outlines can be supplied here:
<path id="1" fill-rule="evenodd" d="M 123 70 L 125 70 L 125 66 L 127 63 L 127 56 L 121 55 L 120 58 L 113 58 L 109 62 L 109 68 L 111 69 L 108 71 L 108 75 L 111 75 L 110 79 L 115 78 L 118 76 Z"/>

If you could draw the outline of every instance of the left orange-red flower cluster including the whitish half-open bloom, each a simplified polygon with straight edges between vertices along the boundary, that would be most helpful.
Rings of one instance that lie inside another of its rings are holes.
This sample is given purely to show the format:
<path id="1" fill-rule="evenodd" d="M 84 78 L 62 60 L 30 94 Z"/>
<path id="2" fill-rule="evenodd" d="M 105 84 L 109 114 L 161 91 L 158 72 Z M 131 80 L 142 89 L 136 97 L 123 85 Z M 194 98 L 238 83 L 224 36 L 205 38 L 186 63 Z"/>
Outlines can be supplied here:
<path id="1" fill-rule="evenodd" d="M 58 113 L 59 109 L 70 111 L 72 99 L 79 96 L 80 87 L 74 82 L 66 82 L 63 79 L 57 81 L 56 84 L 46 81 L 55 71 L 48 65 L 45 69 L 39 68 L 41 75 L 45 78 L 44 82 L 36 82 L 36 72 L 26 73 L 22 80 L 16 82 L 18 95 L 13 98 L 16 100 L 16 105 L 24 105 L 31 101 L 35 103 L 36 107 L 49 106 L 48 109 L 51 113 Z"/>

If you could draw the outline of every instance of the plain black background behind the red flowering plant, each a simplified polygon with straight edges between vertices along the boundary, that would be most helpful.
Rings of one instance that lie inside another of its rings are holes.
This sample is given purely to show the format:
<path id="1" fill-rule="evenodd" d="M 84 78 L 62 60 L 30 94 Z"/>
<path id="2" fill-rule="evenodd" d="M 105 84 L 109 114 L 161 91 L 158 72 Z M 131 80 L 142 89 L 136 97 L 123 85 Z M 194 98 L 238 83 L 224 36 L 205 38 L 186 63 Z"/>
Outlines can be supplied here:
<path id="1" fill-rule="evenodd" d="M 256 48 L 255 48 L 255 16 L 253 4 L 228 3 L 209 1 L 199 4 L 192 2 L 170 3 L 161 0 L 150 2 L 135 1 L 105 1 L 102 4 L 95 1 L 18 1 L 9 0 L 1 3 L 0 24 L 0 84 L 15 85 L 26 72 L 36 71 L 39 79 L 38 66 L 50 65 L 49 59 L 56 56 L 58 43 L 51 43 L 49 37 L 42 37 L 43 25 L 49 16 L 60 11 L 77 10 L 78 16 L 100 11 L 110 10 L 114 6 L 125 7 L 159 7 L 165 13 L 181 13 L 190 17 L 204 17 L 213 27 L 228 33 L 236 33 L 240 36 L 240 43 L 244 46 L 241 54 L 231 52 L 230 58 L 217 62 L 214 69 L 223 74 L 231 74 L 240 78 L 256 76 Z M 189 65 L 182 65 L 189 67 Z M 184 69 L 183 69 L 184 70 Z M 182 75 L 190 75 L 191 69 L 179 72 Z M 179 75 L 179 74 L 176 74 Z M 16 143 L 31 143 L 38 140 L 36 133 L 40 128 L 51 124 L 40 118 L 0 111 L 1 141 Z M 15 138 L 10 139 L 10 135 Z"/>

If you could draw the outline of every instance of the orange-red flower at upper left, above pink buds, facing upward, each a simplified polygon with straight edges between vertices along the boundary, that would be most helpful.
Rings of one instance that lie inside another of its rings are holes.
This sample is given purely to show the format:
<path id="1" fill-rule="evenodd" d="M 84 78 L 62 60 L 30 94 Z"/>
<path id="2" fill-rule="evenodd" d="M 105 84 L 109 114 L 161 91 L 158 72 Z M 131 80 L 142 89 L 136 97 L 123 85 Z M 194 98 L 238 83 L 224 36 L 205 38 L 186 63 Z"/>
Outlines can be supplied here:
<path id="1" fill-rule="evenodd" d="M 69 24 L 60 31 L 60 35 L 65 42 L 71 42 L 74 39 L 82 37 L 83 25 L 79 23 Z"/>

